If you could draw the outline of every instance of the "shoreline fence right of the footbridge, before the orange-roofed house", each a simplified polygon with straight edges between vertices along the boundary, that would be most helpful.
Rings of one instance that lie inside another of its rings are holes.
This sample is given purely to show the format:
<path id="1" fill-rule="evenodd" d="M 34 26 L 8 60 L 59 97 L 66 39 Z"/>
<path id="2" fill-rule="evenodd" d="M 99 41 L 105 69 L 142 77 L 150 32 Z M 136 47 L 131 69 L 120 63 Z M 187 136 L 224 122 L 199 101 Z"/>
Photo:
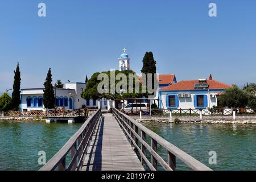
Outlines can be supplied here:
<path id="1" fill-rule="evenodd" d="M 256 108 L 214 108 L 214 109 L 121 109 L 122 113 L 127 115 L 151 115 L 151 116 L 168 116 L 170 112 L 173 115 L 178 116 L 193 116 L 200 115 L 200 111 L 202 115 L 232 115 L 233 110 L 236 111 L 236 114 L 241 115 L 253 115 L 256 112 Z"/>

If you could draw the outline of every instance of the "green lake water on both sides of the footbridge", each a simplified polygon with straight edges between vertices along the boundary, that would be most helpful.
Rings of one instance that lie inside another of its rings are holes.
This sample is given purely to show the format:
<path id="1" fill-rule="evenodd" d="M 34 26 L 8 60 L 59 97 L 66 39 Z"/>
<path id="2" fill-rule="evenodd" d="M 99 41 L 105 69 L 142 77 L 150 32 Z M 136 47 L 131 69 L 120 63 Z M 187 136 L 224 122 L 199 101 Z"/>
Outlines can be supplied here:
<path id="1" fill-rule="evenodd" d="M 38 170 L 38 152 L 48 161 L 81 125 L 0 121 L 0 170 Z M 256 170 L 256 125 L 143 125 L 214 170 Z M 208 164 L 209 151 L 217 152 L 217 165 Z M 163 148 L 159 153 L 166 159 Z M 177 169 L 189 168 L 177 160 Z"/>

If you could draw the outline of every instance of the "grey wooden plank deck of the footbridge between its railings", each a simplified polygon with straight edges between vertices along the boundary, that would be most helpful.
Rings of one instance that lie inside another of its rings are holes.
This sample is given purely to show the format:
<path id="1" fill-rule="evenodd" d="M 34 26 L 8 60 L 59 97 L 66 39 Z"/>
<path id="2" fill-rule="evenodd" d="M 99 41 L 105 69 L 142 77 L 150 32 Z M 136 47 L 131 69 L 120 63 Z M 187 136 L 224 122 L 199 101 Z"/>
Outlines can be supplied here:
<path id="1" fill-rule="evenodd" d="M 112 114 L 102 114 L 85 155 L 82 171 L 144 171 Z"/>

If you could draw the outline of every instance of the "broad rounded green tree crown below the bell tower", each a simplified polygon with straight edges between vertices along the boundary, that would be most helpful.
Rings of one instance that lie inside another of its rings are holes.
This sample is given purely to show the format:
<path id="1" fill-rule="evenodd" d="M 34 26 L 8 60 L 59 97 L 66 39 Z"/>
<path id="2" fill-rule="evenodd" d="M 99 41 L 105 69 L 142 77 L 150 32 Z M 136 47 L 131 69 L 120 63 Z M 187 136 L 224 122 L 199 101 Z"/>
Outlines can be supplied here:
<path id="1" fill-rule="evenodd" d="M 101 73 L 106 73 L 106 75 L 108 75 L 108 78 L 109 78 L 109 92 L 110 92 L 110 71 L 101 72 Z M 129 86 L 129 73 L 135 74 L 135 72 L 133 72 L 131 70 L 115 71 L 114 73 L 115 73 L 115 76 L 117 76 L 118 73 L 124 73 L 126 75 L 126 77 L 127 77 L 127 87 Z M 97 100 L 98 98 L 102 98 L 102 97 L 113 100 L 113 98 L 142 98 L 143 96 L 147 96 L 147 94 L 142 94 L 141 84 L 139 84 L 140 93 L 134 93 L 133 92 L 131 94 L 130 93 L 119 94 L 119 93 L 115 92 L 115 93 L 108 93 L 108 94 L 105 94 L 105 93 L 100 94 L 100 93 L 98 93 L 98 84 L 101 82 L 101 80 L 98 80 L 98 75 L 100 75 L 99 72 L 94 73 L 92 75 L 92 77 L 88 80 L 88 82 L 86 83 L 85 90 L 84 90 L 84 92 L 81 93 L 81 97 L 84 98 L 85 100 L 90 100 L 90 99 Z M 120 81 L 121 80 L 115 80 L 115 86 Z M 134 88 L 135 88 L 135 83 L 134 83 Z"/>

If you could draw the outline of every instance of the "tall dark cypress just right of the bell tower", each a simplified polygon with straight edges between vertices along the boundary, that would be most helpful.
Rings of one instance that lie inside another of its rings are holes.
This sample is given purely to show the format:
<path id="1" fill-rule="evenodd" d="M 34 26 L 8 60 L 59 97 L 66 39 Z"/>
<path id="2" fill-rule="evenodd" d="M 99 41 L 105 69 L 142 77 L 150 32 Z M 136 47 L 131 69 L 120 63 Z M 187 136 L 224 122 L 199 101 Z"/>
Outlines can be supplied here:
<path id="1" fill-rule="evenodd" d="M 141 72 L 145 73 L 146 75 L 148 73 L 156 73 L 156 61 L 154 60 L 154 55 L 152 52 L 146 52 L 143 60 L 143 67 Z M 152 75 L 152 88 L 154 88 L 154 75 Z"/>

